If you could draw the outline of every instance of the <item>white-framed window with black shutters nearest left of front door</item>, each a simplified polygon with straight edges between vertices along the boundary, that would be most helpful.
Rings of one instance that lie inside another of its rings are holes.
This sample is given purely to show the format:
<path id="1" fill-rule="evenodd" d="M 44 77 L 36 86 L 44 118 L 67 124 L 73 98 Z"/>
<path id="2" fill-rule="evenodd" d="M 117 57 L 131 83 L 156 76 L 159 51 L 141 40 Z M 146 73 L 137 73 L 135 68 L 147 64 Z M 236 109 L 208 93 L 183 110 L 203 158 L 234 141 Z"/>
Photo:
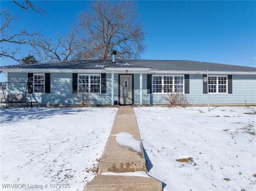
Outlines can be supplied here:
<path id="1" fill-rule="evenodd" d="M 100 90 L 99 74 L 78 74 L 78 93 L 100 93 Z"/>

